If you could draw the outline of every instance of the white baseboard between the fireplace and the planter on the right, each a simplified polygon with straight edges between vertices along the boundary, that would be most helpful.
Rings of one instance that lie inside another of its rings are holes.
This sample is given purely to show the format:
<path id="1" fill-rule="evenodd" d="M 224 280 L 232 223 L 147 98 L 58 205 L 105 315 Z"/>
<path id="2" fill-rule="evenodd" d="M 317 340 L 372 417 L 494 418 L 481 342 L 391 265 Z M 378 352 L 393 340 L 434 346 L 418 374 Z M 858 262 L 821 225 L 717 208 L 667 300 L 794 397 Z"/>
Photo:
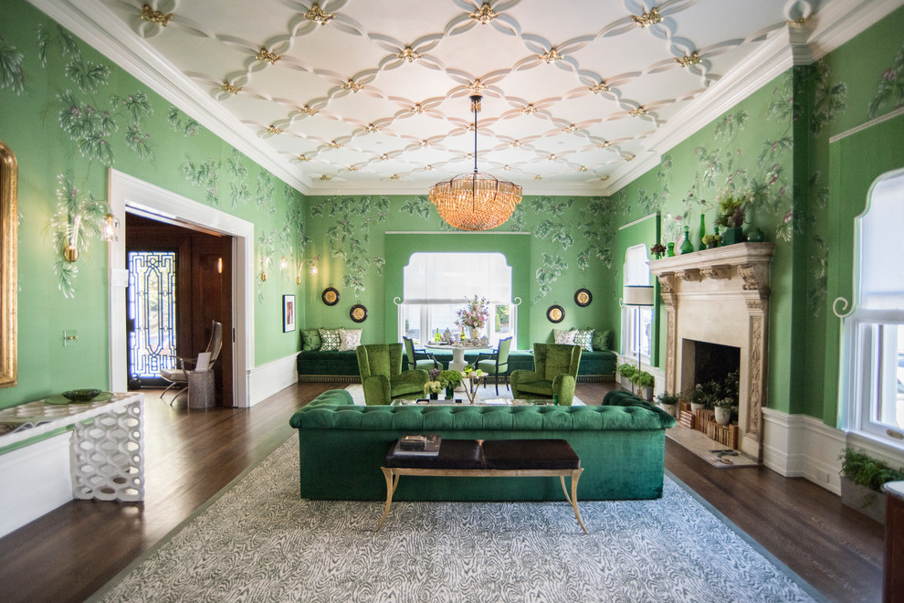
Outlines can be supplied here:
<path id="1" fill-rule="evenodd" d="M 763 408 L 762 463 L 784 477 L 802 477 L 841 494 L 844 431 L 818 418 Z"/>

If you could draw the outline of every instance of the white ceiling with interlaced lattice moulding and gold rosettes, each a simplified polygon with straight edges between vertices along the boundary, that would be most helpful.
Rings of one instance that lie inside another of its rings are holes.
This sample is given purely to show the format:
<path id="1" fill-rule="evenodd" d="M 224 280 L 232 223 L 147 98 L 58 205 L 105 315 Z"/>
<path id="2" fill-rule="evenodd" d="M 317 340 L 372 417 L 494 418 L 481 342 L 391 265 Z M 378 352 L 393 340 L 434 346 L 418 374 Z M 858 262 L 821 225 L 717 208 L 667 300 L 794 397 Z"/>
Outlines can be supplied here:
<path id="1" fill-rule="evenodd" d="M 65 0 L 59 12 L 309 194 L 423 194 L 470 172 L 475 92 L 481 172 L 527 194 L 604 194 L 666 152 L 668 133 L 715 117 L 700 117 L 712 90 L 776 40 L 790 67 L 794 30 L 832 1 Z"/>

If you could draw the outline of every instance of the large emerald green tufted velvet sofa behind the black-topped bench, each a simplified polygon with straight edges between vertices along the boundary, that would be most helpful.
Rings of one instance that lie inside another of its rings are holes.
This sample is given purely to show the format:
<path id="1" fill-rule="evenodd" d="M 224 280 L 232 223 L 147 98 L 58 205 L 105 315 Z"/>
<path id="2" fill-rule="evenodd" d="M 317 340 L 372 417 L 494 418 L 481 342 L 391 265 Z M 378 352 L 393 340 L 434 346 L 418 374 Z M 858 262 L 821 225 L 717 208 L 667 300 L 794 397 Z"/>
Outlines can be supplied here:
<path id="1" fill-rule="evenodd" d="M 615 392 L 614 392 L 615 393 Z M 625 392 L 618 392 L 626 394 Z M 361 407 L 332 389 L 300 408 L 301 497 L 383 501 L 380 466 L 390 444 L 406 434 L 447 439 L 567 439 L 584 468 L 578 500 L 662 496 L 665 429 L 675 418 L 631 394 L 599 407 Z M 558 501 L 552 478 L 418 478 L 403 480 L 396 500 Z"/>

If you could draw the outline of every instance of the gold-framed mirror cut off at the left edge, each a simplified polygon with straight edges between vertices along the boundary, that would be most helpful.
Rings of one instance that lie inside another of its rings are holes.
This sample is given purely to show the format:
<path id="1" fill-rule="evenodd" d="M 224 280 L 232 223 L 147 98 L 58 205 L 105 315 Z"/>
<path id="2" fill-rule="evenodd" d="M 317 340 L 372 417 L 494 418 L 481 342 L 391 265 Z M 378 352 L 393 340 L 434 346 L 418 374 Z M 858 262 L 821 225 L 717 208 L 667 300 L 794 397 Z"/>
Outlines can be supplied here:
<path id="1" fill-rule="evenodd" d="M 16 155 L 0 143 L 0 387 L 16 385 Z"/>

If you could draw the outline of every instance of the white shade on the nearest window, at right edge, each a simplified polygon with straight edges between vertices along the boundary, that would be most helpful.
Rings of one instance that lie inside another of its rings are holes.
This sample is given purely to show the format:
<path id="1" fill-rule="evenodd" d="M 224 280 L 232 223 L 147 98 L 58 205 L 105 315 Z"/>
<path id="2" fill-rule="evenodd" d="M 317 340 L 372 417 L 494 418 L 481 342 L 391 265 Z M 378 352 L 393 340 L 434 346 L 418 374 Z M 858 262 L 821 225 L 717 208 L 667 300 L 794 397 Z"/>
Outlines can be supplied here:
<path id="1" fill-rule="evenodd" d="M 860 257 L 857 306 L 860 310 L 904 308 L 904 262 L 900 260 L 904 224 L 904 173 L 873 188 L 867 211 L 858 220 Z"/>

